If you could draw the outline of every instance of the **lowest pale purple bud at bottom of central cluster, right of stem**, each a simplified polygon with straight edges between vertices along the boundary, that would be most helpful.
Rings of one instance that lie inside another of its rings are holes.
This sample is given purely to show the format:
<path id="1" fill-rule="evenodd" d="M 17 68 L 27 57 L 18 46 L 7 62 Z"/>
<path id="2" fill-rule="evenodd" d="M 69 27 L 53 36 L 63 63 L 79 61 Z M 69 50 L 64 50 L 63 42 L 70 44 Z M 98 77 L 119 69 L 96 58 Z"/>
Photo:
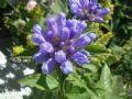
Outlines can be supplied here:
<path id="1" fill-rule="evenodd" d="M 70 61 L 65 61 L 61 65 L 61 69 L 65 75 L 68 75 L 73 72 L 73 64 Z"/>

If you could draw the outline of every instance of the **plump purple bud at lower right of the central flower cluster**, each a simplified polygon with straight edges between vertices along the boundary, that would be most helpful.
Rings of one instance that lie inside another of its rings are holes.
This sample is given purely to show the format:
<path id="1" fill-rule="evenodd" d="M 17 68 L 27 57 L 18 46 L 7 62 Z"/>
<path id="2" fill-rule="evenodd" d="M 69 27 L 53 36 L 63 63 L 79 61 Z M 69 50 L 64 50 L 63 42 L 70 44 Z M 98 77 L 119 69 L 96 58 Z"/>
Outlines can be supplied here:
<path id="1" fill-rule="evenodd" d="M 80 66 L 89 63 L 87 56 L 80 52 L 77 52 L 74 55 L 72 55 L 72 58 Z"/>

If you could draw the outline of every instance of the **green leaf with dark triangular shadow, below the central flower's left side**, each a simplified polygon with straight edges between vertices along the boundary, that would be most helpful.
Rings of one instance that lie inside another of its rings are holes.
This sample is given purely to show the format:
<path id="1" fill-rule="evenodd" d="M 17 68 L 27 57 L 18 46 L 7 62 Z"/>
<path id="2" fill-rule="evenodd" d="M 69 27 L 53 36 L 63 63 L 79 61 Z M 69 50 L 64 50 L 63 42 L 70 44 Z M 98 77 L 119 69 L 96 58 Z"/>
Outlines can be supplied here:
<path id="1" fill-rule="evenodd" d="M 52 90 L 58 86 L 57 80 L 51 75 L 36 74 L 19 80 L 20 84 L 35 87 L 41 90 Z"/>

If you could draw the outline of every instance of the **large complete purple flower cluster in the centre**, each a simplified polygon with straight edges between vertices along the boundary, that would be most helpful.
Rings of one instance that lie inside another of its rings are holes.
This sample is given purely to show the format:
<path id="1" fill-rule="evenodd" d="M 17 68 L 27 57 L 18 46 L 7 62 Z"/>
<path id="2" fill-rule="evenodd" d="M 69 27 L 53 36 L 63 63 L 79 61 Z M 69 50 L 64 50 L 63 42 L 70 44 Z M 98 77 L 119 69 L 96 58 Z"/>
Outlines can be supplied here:
<path id="1" fill-rule="evenodd" d="M 36 24 L 33 28 L 32 41 L 40 46 L 34 55 L 37 64 L 42 65 L 42 72 L 48 74 L 59 64 L 61 70 L 68 75 L 73 72 L 74 61 L 78 66 L 89 63 L 89 53 L 84 50 L 96 38 L 95 33 L 82 34 L 87 24 L 84 21 L 66 20 L 61 12 L 56 20 L 46 20 L 47 31 Z"/>

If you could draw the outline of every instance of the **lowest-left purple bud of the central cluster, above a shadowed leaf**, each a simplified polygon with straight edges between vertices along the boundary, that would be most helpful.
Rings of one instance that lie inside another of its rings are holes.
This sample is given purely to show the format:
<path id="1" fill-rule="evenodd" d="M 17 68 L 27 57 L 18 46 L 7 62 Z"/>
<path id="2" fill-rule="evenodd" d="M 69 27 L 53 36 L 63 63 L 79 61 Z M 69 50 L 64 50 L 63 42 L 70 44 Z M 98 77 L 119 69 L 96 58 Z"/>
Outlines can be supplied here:
<path id="1" fill-rule="evenodd" d="M 55 64 L 56 64 L 55 59 L 54 58 L 50 58 L 48 61 L 46 61 L 46 62 L 43 63 L 43 65 L 42 65 L 42 72 L 44 74 L 51 73 L 54 69 Z"/>

